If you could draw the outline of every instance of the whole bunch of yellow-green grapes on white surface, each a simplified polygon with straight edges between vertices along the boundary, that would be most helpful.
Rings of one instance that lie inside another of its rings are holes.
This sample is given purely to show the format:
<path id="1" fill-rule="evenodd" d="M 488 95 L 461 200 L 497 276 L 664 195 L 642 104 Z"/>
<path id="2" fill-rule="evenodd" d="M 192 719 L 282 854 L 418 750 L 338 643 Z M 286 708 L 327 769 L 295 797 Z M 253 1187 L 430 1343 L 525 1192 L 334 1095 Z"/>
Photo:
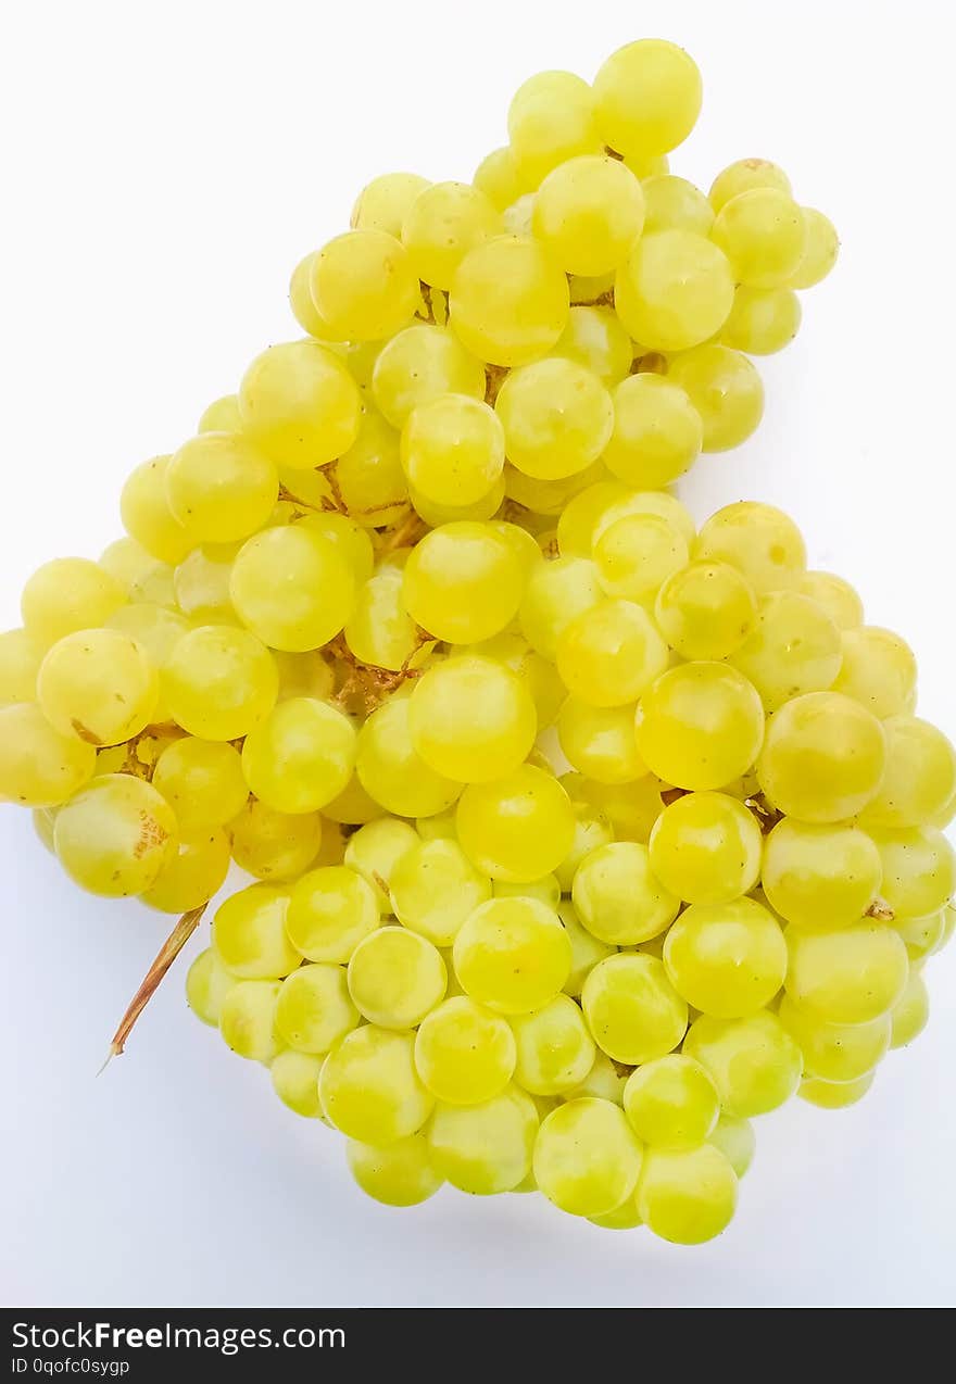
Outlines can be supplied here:
<path id="1" fill-rule="evenodd" d="M 757 428 L 750 356 L 837 255 L 771 162 L 670 173 L 699 108 L 642 40 L 524 83 L 470 184 L 371 183 L 306 335 L 0 637 L 0 794 L 184 915 L 152 984 L 257 880 L 190 1005 L 393 1205 L 710 1239 L 750 1120 L 858 1100 L 953 930 L 910 649 L 780 511 L 697 531 L 668 489 Z"/>

